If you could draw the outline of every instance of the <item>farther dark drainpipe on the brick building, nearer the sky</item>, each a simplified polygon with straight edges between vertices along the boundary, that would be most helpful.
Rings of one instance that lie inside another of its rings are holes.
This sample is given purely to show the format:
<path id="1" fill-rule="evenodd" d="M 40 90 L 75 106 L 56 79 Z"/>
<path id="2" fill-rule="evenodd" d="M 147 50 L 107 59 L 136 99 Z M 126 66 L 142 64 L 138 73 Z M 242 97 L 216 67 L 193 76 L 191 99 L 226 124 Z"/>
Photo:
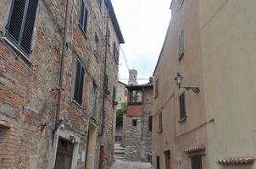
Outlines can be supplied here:
<path id="1" fill-rule="evenodd" d="M 109 3 L 109 1 L 108 1 Z M 106 72 L 107 72 L 107 57 L 108 57 L 108 40 L 109 40 L 109 4 L 107 4 L 107 25 L 106 25 L 106 38 L 105 38 L 105 59 L 104 59 L 104 74 L 103 74 L 103 118 L 102 118 L 102 128 L 99 137 L 103 135 L 103 128 L 105 123 L 105 97 L 106 97 Z"/>

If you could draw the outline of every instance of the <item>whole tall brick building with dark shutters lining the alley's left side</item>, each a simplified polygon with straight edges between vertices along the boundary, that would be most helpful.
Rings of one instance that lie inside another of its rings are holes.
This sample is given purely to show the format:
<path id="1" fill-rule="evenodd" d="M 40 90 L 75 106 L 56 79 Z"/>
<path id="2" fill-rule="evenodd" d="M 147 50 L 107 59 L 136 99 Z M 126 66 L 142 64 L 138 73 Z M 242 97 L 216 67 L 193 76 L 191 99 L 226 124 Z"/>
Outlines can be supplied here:
<path id="1" fill-rule="evenodd" d="M 0 8 L 1 168 L 109 168 L 124 42 L 111 2 Z"/>

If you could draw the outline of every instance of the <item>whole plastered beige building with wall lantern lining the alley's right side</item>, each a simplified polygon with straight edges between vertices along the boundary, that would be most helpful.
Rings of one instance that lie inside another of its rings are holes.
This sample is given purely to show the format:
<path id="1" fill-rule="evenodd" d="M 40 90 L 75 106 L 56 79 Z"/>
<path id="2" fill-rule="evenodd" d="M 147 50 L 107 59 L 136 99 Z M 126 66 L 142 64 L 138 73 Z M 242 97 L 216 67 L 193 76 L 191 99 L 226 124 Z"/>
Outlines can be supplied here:
<path id="1" fill-rule="evenodd" d="M 170 8 L 153 74 L 153 166 L 255 169 L 256 2 Z"/>

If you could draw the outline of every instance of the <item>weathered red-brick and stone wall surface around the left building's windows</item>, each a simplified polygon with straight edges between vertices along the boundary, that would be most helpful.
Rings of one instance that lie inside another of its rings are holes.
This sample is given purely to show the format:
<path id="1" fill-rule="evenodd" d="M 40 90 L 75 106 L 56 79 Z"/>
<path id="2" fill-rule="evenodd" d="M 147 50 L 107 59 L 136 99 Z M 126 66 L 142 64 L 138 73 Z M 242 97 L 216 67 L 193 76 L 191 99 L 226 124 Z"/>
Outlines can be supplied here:
<path id="1" fill-rule="evenodd" d="M 58 95 L 60 57 L 64 33 L 66 1 L 42 0 L 36 15 L 36 26 L 29 58 L 20 55 L 7 41 L 3 40 L 8 22 L 11 1 L 0 3 L 0 166 L 1 168 L 53 168 L 58 137 L 70 139 L 75 136 L 72 168 L 85 168 L 85 154 L 89 123 L 101 130 L 103 101 L 103 62 L 105 51 L 106 6 L 88 0 L 89 12 L 86 34 L 79 25 L 80 0 L 70 1 L 68 21 L 68 45 L 64 57 L 64 79 L 61 97 L 60 119 L 63 128 L 58 128 L 52 137 L 55 124 Z M 111 43 L 119 41 L 114 25 Z M 94 38 L 99 39 L 99 52 L 94 54 Z M 97 138 L 96 165 L 99 161 L 99 146 L 106 148 L 103 168 L 109 168 L 114 147 L 114 106 L 112 87 L 117 83 L 118 64 L 113 57 L 113 46 L 108 45 L 109 90 L 105 109 L 103 137 Z M 80 59 L 86 68 L 83 102 L 79 106 L 73 101 L 76 61 Z M 93 83 L 97 85 L 97 116 L 92 120 L 90 95 Z"/>

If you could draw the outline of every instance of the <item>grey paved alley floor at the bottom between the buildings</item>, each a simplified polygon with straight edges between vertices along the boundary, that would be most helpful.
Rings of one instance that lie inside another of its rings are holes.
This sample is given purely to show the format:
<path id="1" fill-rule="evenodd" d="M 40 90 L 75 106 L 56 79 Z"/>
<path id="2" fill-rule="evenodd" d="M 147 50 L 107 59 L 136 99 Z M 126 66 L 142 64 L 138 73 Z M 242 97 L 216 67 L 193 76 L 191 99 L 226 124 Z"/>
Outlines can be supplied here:
<path id="1" fill-rule="evenodd" d="M 149 163 L 137 161 L 120 161 L 116 159 L 114 165 L 110 169 L 152 169 Z"/>

